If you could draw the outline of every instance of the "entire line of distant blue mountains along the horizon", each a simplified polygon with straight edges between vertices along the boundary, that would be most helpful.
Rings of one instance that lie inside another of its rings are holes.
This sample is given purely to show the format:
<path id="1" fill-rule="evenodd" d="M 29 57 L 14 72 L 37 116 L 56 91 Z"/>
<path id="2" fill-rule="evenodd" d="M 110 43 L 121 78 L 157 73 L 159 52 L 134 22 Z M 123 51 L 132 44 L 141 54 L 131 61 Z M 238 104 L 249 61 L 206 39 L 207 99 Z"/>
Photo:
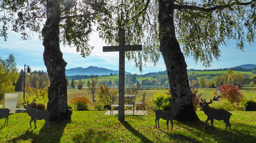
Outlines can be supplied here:
<path id="1" fill-rule="evenodd" d="M 253 64 L 246 64 L 246 65 L 240 65 L 236 67 L 230 68 L 231 70 L 234 71 L 243 71 L 242 69 L 256 69 L 256 65 Z M 223 69 L 212 69 L 212 70 L 195 70 L 195 71 L 221 71 L 221 70 L 227 70 L 227 68 Z M 189 71 L 194 71 L 194 69 L 189 69 Z M 88 68 L 72 68 L 72 69 L 66 69 L 66 75 L 67 76 L 72 76 L 72 75 L 110 75 L 110 74 L 119 74 L 119 71 L 115 70 L 110 70 L 106 68 L 99 68 L 99 67 L 93 67 L 90 66 Z M 125 74 L 132 74 L 130 72 L 126 72 Z M 155 74 L 161 74 L 161 75 L 166 75 L 166 71 L 161 71 L 161 72 L 151 72 L 151 73 L 146 73 L 144 76 L 150 76 L 150 75 L 155 75 Z"/>

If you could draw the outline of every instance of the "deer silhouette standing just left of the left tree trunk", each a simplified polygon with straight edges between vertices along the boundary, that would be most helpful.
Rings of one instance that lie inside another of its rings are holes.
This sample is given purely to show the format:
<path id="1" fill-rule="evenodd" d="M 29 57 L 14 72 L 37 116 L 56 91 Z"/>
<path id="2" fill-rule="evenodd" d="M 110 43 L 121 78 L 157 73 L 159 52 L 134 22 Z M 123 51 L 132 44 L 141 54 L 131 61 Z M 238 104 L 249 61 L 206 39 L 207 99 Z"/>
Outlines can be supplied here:
<path id="1" fill-rule="evenodd" d="M 35 102 L 36 99 L 34 98 L 34 101 Z M 36 120 L 42 120 L 44 119 L 46 121 L 46 124 L 47 124 L 47 127 L 50 126 L 50 121 L 49 121 L 49 118 L 50 118 L 50 112 L 48 110 L 38 110 L 38 109 L 34 109 L 31 107 L 31 104 L 27 103 L 26 101 L 24 101 L 24 103 L 26 105 L 24 105 L 24 108 L 27 109 L 27 112 L 28 112 L 28 115 L 31 117 L 30 119 L 30 128 L 31 127 L 31 122 L 34 121 L 34 124 L 35 124 L 35 129 L 36 129 Z"/>

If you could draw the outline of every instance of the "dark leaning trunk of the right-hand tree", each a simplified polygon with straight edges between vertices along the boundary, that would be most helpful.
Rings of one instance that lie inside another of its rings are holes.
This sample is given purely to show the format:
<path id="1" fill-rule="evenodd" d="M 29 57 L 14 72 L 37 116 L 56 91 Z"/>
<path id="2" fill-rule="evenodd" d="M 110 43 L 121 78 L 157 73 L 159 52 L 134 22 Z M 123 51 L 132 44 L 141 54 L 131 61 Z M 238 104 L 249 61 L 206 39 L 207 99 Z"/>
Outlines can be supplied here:
<path id="1" fill-rule="evenodd" d="M 174 0 L 159 0 L 160 51 L 170 83 L 170 94 L 175 103 L 182 105 L 176 116 L 178 121 L 198 121 L 187 78 L 187 65 L 175 35 Z"/>

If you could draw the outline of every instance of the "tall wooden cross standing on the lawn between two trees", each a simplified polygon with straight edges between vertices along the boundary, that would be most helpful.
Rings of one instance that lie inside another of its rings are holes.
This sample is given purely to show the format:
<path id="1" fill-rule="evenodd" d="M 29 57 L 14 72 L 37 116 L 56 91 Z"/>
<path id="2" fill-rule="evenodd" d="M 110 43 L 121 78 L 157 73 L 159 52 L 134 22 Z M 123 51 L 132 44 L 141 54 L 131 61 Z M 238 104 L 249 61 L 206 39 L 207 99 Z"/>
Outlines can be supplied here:
<path id="1" fill-rule="evenodd" d="M 125 52 L 142 50 L 141 45 L 124 45 L 125 44 L 125 31 L 120 29 L 118 32 L 119 46 L 103 46 L 103 52 L 105 51 L 119 51 L 119 107 L 118 107 L 118 120 L 124 121 L 124 63 Z"/>

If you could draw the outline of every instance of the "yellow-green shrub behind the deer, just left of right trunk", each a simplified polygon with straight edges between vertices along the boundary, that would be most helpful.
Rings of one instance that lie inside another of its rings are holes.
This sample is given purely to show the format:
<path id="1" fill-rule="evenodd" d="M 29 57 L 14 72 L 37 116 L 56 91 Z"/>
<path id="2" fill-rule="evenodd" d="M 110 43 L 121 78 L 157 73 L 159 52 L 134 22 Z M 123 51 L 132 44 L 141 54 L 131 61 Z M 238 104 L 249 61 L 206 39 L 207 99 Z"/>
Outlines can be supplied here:
<path id="1" fill-rule="evenodd" d="M 168 95 L 167 93 L 160 93 L 160 92 L 157 92 L 154 94 L 153 98 L 152 98 L 152 101 L 155 103 L 156 107 L 157 108 L 162 108 L 163 109 L 163 106 L 164 108 L 166 106 L 170 106 L 170 103 L 168 101 L 170 95 Z"/>

